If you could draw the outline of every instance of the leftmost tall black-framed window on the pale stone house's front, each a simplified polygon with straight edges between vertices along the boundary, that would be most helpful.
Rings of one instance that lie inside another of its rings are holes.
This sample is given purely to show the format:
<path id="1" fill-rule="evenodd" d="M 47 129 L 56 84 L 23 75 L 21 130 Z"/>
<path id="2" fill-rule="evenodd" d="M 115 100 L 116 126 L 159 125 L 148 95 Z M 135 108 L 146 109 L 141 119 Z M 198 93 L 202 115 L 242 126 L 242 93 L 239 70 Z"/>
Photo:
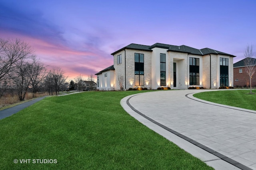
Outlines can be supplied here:
<path id="1" fill-rule="evenodd" d="M 135 86 L 144 86 L 144 54 L 134 53 Z"/>

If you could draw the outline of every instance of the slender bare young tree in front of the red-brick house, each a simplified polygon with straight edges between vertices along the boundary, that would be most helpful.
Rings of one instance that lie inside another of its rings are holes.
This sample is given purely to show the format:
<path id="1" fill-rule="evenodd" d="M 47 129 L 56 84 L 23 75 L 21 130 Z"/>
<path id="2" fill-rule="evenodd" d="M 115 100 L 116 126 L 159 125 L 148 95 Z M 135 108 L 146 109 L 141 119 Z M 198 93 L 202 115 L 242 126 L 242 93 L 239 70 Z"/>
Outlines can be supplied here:
<path id="1" fill-rule="evenodd" d="M 250 93 L 252 94 L 252 76 L 255 73 L 256 59 L 254 58 L 253 45 L 247 45 L 244 51 L 245 71 L 250 77 Z"/>

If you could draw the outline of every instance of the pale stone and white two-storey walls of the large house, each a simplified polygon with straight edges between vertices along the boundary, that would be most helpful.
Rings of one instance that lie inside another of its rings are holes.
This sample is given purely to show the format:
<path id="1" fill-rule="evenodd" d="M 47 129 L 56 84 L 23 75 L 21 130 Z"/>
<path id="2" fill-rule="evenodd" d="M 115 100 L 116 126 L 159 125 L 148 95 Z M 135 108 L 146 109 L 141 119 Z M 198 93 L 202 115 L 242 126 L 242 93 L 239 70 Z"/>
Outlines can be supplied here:
<path id="1" fill-rule="evenodd" d="M 160 82 L 160 71 L 158 75 L 158 66 L 160 67 L 160 53 L 166 54 L 166 86 L 173 89 L 173 63 L 177 63 L 177 88 L 187 88 L 189 85 L 189 57 L 200 58 L 200 82 L 202 82 L 205 88 L 218 88 L 220 85 L 220 57 L 229 58 L 229 82 L 231 86 L 234 84 L 233 80 L 233 57 L 228 57 L 224 55 L 211 54 L 211 81 L 210 81 L 210 55 L 198 56 L 198 55 L 188 55 L 187 53 L 178 53 L 173 51 L 168 51 L 167 49 L 156 48 L 153 51 L 142 51 L 126 49 L 125 51 L 120 51 L 114 55 L 114 83 L 113 88 L 120 90 L 118 83 L 118 76 L 125 77 L 125 55 L 126 55 L 126 90 L 129 88 L 135 88 L 134 82 L 134 53 L 144 54 L 144 86 L 148 89 L 158 88 L 158 82 Z M 122 54 L 122 63 L 117 64 L 117 56 Z M 159 55 L 159 56 L 158 56 Z M 152 58 L 154 62 L 152 63 Z M 159 59 L 159 61 L 158 61 Z M 157 63 L 156 63 L 157 62 Z M 154 69 L 152 69 L 154 68 Z M 153 78 L 153 79 L 152 79 Z M 159 79 L 159 80 L 158 80 Z M 187 83 L 187 85 L 186 85 Z M 211 84 L 210 84 L 211 83 Z M 124 84 L 124 82 L 123 82 Z M 125 87 L 125 84 L 124 84 Z"/>

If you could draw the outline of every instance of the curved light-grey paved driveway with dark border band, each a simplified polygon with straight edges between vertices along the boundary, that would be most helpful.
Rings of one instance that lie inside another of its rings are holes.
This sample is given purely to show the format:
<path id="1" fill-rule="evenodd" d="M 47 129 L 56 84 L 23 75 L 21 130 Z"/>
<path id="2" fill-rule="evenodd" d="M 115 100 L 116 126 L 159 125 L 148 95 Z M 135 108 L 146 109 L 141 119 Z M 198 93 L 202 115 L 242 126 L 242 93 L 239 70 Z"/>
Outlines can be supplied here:
<path id="1" fill-rule="evenodd" d="M 170 90 L 128 96 L 121 105 L 141 123 L 215 169 L 256 170 L 256 111 Z"/>

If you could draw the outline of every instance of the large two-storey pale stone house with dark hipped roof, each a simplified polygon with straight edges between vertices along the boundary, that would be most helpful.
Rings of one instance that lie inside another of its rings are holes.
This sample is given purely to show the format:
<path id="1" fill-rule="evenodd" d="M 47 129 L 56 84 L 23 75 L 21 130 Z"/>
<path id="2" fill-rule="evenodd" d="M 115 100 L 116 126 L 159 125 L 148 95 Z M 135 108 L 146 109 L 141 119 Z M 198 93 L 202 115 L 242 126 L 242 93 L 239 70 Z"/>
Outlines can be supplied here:
<path id="1" fill-rule="evenodd" d="M 97 75 L 97 89 L 143 87 L 187 89 L 190 86 L 233 86 L 233 57 L 209 48 L 156 43 L 130 44 L 112 53 L 114 65 Z"/>

